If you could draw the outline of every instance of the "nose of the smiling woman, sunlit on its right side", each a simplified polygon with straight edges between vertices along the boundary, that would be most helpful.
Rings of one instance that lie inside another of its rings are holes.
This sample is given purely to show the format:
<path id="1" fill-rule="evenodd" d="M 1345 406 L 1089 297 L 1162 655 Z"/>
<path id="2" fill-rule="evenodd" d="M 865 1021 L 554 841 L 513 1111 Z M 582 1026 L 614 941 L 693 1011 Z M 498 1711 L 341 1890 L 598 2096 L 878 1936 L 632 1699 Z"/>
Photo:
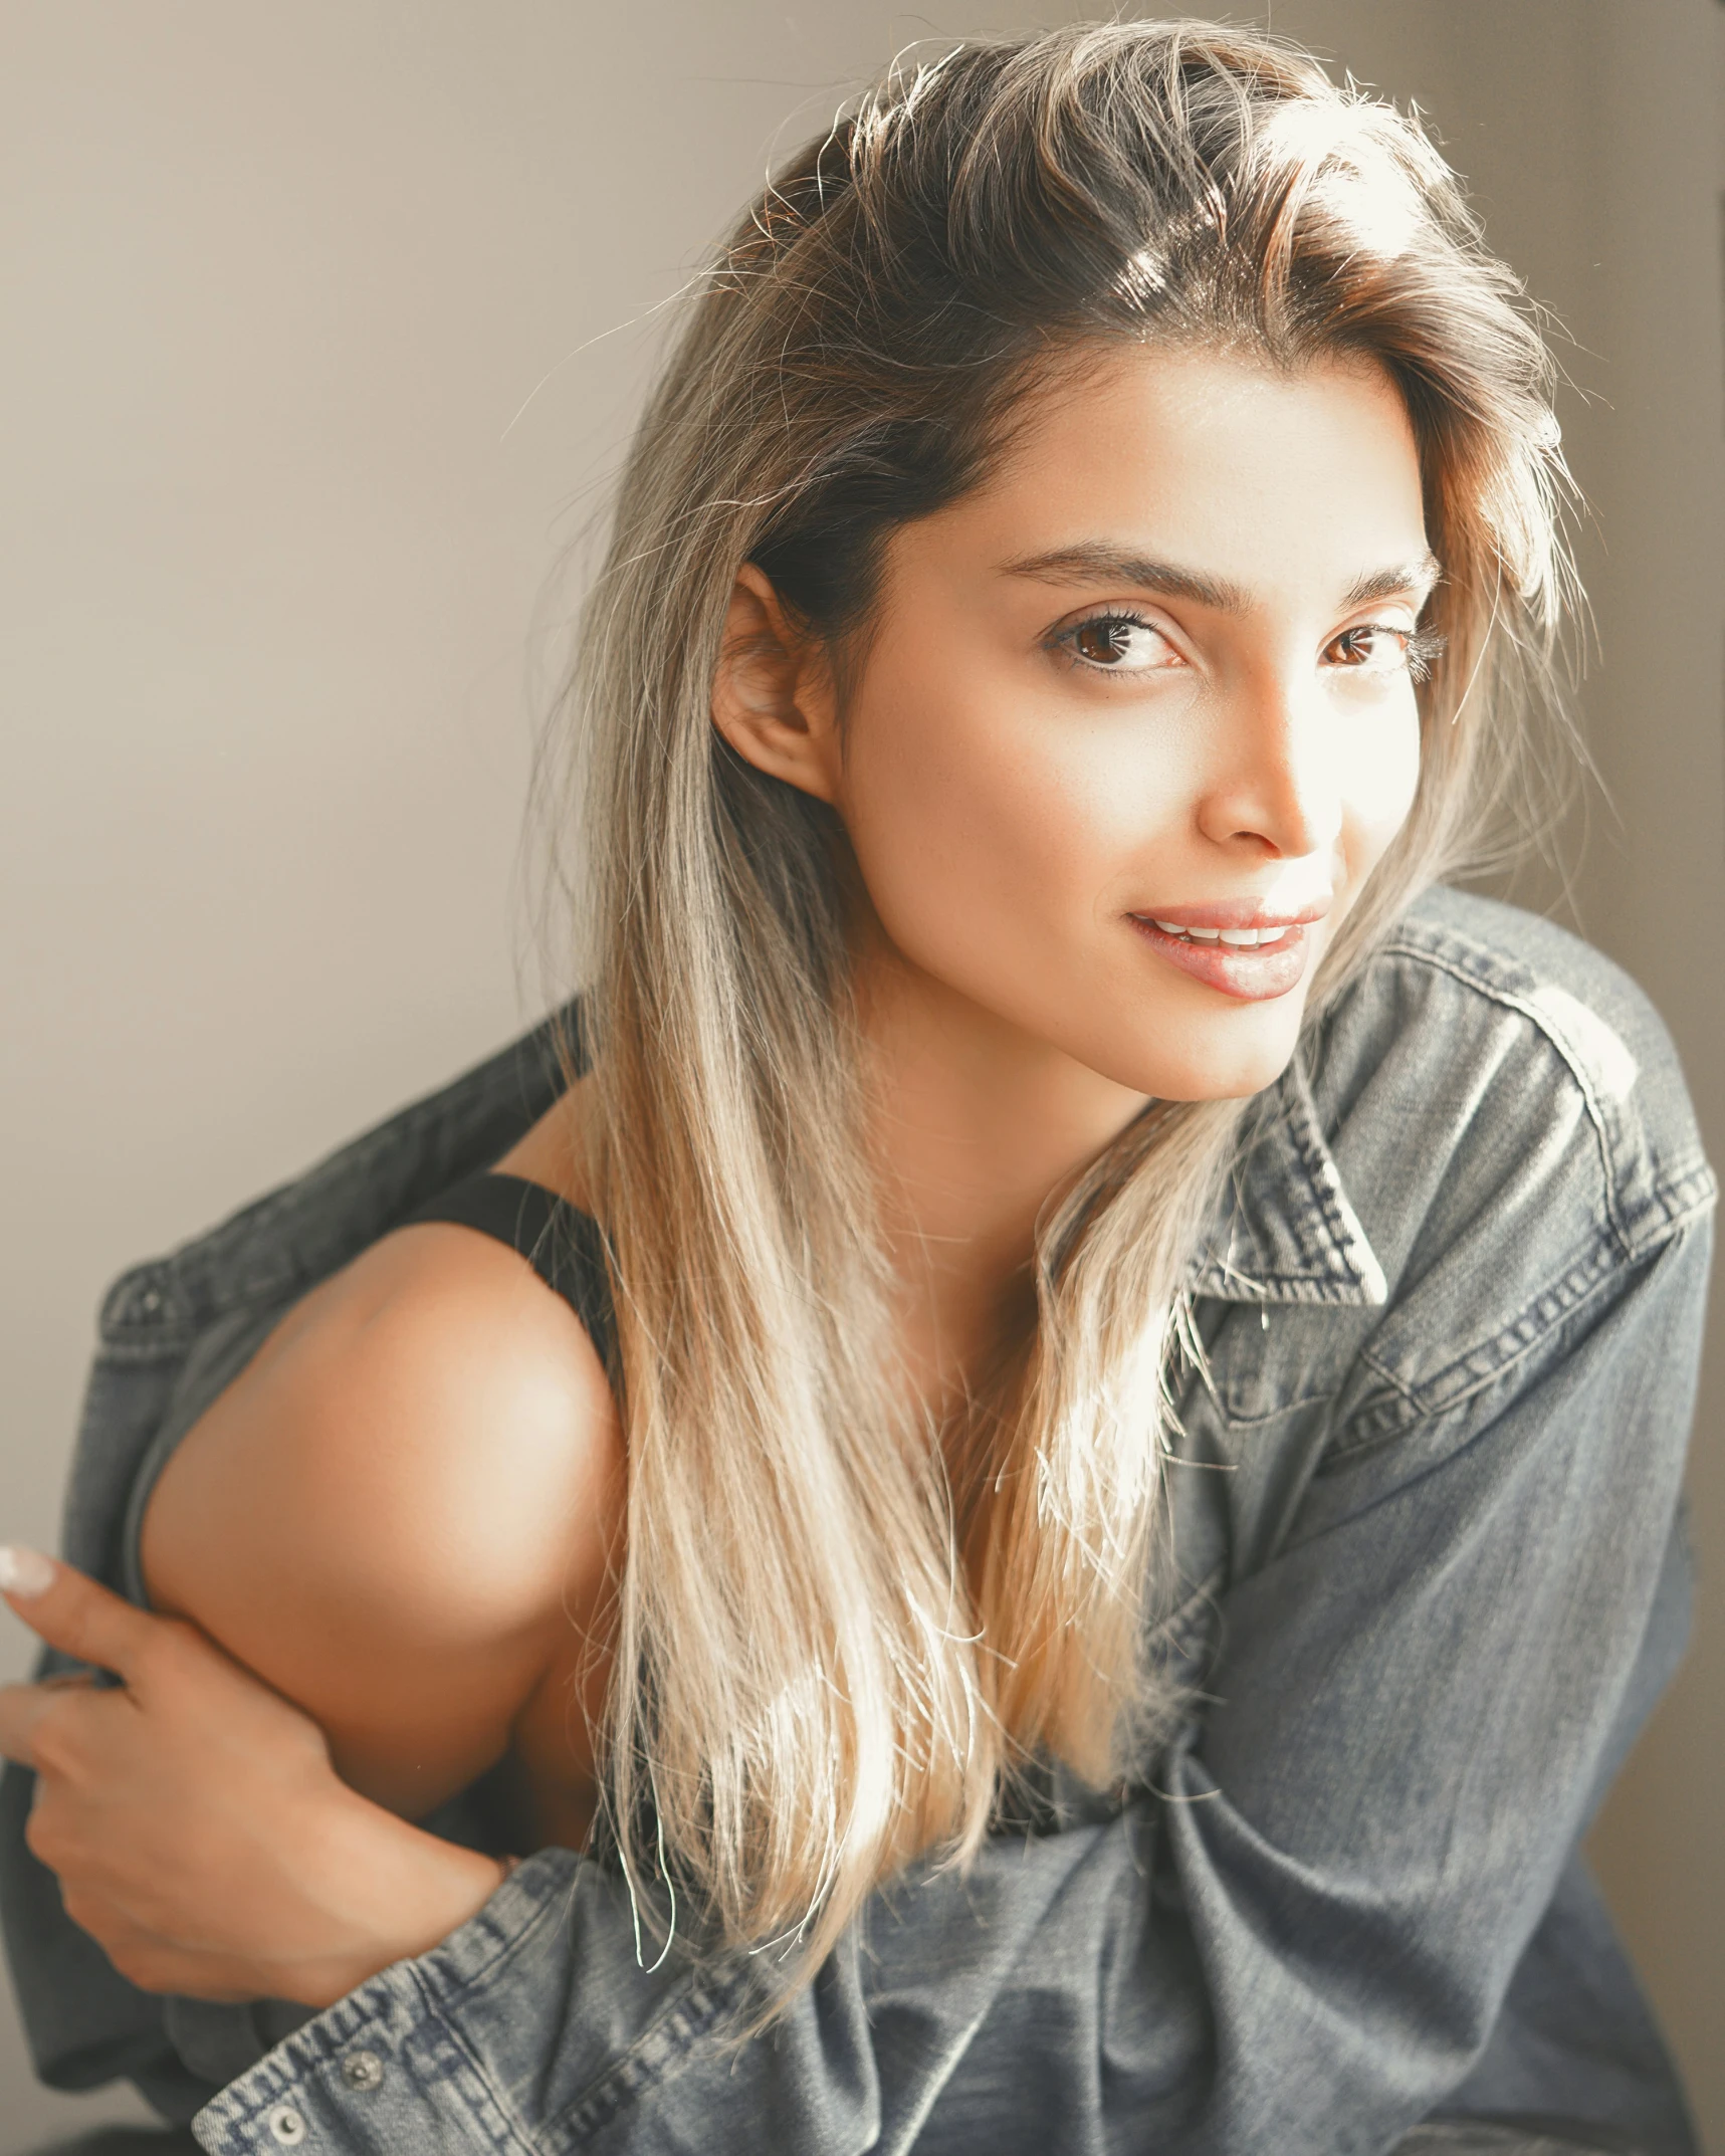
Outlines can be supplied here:
<path id="1" fill-rule="evenodd" d="M 1242 686 L 1216 740 L 1199 804 L 1203 834 L 1276 860 L 1328 852 L 1341 832 L 1341 742 L 1317 683 Z"/>

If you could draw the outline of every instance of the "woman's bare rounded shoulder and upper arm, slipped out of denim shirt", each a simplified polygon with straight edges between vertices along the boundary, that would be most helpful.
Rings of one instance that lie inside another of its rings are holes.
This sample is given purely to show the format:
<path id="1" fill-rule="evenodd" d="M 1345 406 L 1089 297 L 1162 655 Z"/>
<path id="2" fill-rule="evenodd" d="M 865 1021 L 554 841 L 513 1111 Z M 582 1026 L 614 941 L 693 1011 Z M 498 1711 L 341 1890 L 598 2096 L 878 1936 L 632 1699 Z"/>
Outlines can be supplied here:
<path id="1" fill-rule="evenodd" d="M 144 1585 L 390 1811 L 423 1818 L 513 1744 L 537 1815 L 569 1818 L 591 1777 L 569 1692 L 597 1703 L 621 1520 L 574 1311 L 505 1244 L 423 1222 L 295 1304 L 188 1432 Z"/>

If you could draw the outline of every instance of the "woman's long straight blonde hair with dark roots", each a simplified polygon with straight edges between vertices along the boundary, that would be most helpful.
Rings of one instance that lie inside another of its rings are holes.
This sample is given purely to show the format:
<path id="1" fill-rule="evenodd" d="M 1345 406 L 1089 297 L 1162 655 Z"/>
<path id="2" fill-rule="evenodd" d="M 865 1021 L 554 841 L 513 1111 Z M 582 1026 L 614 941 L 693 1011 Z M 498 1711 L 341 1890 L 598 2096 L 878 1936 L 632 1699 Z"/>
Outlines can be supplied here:
<path id="1" fill-rule="evenodd" d="M 953 1442 L 899 1406 L 830 811 L 712 724 L 757 563 L 839 664 L 880 550 L 1108 341 L 1376 360 L 1445 576 L 1412 815 L 1311 1020 L 1524 791 L 1565 554 L 1548 358 L 1414 121 L 1289 45 L 1067 26 L 895 65 L 690 300 L 582 617 L 593 1203 L 627 1557 L 602 1736 L 649 1923 L 826 1955 L 1011 1770 L 1102 1785 L 1156 1695 L 1143 1617 L 1184 1281 L 1238 1102 L 1154 1104 L 1039 1227 L 1020 1352 Z M 960 1548 L 970 1563 L 960 1559 Z M 664 1889 L 664 1891 L 660 1891 Z"/>

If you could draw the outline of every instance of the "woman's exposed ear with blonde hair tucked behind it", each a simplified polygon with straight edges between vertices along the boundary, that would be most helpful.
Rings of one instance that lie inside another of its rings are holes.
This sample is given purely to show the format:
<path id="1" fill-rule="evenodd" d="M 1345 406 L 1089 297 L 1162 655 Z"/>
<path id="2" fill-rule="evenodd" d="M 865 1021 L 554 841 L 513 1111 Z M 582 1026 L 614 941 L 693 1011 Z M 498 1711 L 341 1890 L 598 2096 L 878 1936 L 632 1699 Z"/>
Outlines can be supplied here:
<path id="1" fill-rule="evenodd" d="M 765 576 L 737 571 L 714 673 L 714 724 L 757 772 L 817 800 L 839 789 L 839 709 L 819 638 L 798 630 Z"/>

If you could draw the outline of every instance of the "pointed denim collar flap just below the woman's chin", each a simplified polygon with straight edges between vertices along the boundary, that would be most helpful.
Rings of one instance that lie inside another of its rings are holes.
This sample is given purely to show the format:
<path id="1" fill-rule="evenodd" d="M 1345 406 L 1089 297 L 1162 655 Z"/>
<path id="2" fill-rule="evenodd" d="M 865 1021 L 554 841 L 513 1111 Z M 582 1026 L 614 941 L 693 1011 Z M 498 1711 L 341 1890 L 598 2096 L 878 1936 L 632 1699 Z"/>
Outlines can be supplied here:
<path id="1" fill-rule="evenodd" d="M 1246 1125 L 1190 1287 L 1218 1302 L 1389 1300 L 1384 1268 L 1341 1188 L 1298 1054 Z"/>

